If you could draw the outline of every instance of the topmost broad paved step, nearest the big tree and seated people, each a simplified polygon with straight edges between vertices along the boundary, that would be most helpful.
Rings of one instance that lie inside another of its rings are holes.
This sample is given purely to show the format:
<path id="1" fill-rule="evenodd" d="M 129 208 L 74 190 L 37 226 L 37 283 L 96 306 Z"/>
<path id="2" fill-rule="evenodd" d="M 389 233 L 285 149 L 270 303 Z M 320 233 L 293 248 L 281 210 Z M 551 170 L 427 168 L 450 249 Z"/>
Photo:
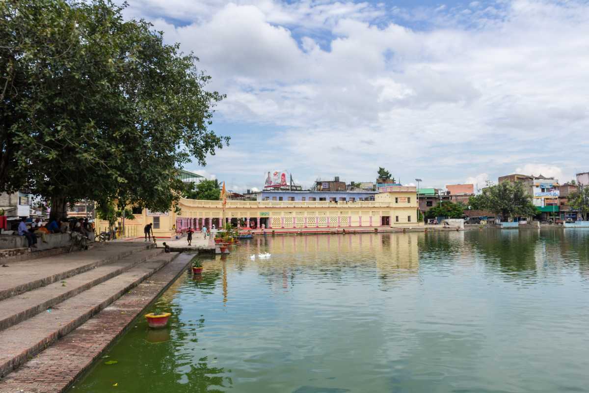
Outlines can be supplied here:
<path id="1" fill-rule="evenodd" d="M 152 247 L 151 244 L 109 243 L 95 245 L 86 251 L 52 256 L 51 263 L 47 263 L 46 257 L 8 263 L 8 267 L 0 267 L 0 300 L 70 278 Z"/>

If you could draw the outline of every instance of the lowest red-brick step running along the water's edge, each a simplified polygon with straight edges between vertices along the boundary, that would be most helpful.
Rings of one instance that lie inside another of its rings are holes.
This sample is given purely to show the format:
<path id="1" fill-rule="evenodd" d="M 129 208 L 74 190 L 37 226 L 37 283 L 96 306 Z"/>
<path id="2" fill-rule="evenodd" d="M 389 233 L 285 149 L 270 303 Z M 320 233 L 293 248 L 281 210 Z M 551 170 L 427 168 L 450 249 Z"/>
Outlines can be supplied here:
<path id="1" fill-rule="evenodd" d="M 2 379 L 0 393 L 65 391 L 128 328 L 135 317 L 186 270 L 190 257 L 181 254 L 133 291 L 125 293 L 84 325 Z"/>

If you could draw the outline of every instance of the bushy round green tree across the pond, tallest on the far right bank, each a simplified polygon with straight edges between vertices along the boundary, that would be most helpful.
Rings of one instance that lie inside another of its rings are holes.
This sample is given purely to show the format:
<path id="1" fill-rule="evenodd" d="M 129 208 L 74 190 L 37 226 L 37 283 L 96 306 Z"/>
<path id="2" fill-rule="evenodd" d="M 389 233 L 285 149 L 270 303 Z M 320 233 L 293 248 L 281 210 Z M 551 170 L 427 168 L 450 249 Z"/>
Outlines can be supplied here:
<path id="1" fill-rule="evenodd" d="M 512 217 L 530 217 L 537 213 L 532 197 L 526 193 L 521 181 L 504 181 L 489 186 L 477 196 L 477 203 L 478 209 L 500 214 L 504 220 Z"/>

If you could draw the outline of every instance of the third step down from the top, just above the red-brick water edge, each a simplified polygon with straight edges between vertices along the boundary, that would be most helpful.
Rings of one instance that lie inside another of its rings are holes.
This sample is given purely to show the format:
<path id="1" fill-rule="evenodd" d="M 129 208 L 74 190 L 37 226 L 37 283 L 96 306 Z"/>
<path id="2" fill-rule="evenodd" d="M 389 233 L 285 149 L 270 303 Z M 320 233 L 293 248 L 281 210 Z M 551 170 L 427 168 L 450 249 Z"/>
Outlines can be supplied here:
<path id="1" fill-rule="evenodd" d="M 176 253 L 159 254 L 127 272 L 58 303 L 51 312 L 41 312 L 1 331 L 0 378 L 88 321 L 92 315 L 160 270 L 176 256 Z"/>

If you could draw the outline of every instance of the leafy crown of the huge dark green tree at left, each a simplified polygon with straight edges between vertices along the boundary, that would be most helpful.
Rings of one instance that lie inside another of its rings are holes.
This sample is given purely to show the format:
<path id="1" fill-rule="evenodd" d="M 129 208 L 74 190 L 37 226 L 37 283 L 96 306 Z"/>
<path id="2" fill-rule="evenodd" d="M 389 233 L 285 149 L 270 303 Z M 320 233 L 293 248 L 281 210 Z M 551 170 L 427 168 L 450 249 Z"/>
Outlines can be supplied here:
<path id="1" fill-rule="evenodd" d="M 178 169 L 229 143 L 209 129 L 223 95 L 198 59 L 122 10 L 0 2 L 0 191 L 39 194 L 52 217 L 80 199 L 167 211 Z"/>

